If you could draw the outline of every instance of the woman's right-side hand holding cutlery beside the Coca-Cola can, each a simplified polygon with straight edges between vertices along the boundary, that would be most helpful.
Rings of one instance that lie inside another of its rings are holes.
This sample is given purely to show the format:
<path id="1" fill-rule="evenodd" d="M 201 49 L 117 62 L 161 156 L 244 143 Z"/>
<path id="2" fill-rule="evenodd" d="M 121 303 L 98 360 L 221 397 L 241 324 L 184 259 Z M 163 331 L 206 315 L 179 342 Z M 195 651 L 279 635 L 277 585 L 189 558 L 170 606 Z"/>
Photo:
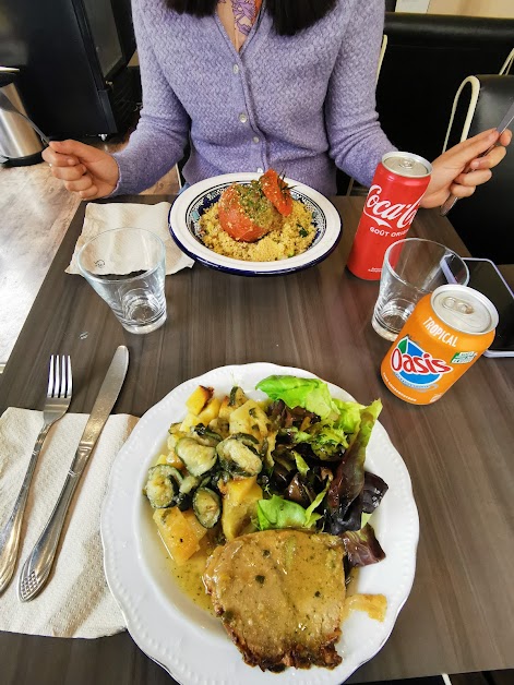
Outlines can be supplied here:
<path id="1" fill-rule="evenodd" d="M 439 207 L 452 194 L 455 197 L 473 195 L 477 185 L 491 178 L 490 169 L 505 156 L 505 146 L 512 139 L 511 131 L 501 136 L 495 129 L 483 131 L 451 147 L 432 163 L 432 178 L 421 201 L 421 207 Z M 497 146 L 485 157 L 479 157 L 491 145 Z M 470 167 L 470 171 L 464 170 Z"/>

